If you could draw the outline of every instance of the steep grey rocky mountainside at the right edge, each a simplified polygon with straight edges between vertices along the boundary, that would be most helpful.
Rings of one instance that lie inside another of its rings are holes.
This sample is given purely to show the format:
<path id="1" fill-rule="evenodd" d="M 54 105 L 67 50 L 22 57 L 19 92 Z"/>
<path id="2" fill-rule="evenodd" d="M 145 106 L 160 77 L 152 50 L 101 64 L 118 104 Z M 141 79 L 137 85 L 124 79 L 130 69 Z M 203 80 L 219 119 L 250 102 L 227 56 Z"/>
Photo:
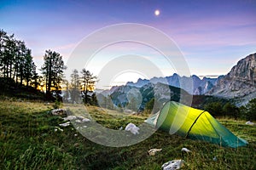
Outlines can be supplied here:
<path id="1" fill-rule="evenodd" d="M 239 60 L 227 75 L 218 79 L 207 94 L 235 99 L 237 105 L 244 105 L 256 98 L 256 54 Z"/>

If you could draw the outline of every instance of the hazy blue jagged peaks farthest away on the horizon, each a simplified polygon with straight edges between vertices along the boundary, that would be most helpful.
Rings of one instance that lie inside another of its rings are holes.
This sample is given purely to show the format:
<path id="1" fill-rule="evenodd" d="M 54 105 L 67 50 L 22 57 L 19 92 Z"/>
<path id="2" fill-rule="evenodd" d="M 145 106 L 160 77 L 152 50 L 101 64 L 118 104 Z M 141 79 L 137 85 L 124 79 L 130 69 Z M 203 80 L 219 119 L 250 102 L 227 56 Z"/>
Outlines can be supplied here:
<path id="1" fill-rule="evenodd" d="M 142 88 L 144 85 L 150 83 L 157 84 L 158 82 L 173 86 L 176 88 L 183 88 L 189 94 L 206 94 L 216 84 L 218 78 L 199 77 L 193 75 L 191 77 L 180 77 L 177 73 L 174 73 L 170 77 L 153 77 L 150 80 L 139 78 L 137 82 L 127 82 L 127 86 L 134 86 Z"/>

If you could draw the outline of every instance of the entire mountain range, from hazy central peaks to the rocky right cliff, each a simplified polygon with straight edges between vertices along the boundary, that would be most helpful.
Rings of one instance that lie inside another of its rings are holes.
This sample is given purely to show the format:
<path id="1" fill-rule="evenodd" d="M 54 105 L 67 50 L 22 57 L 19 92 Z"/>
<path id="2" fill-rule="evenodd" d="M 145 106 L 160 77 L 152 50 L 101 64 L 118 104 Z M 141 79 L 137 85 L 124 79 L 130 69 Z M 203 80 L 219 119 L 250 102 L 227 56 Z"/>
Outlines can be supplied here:
<path id="1" fill-rule="evenodd" d="M 97 95 L 101 96 L 98 99 L 102 101 L 105 98 L 111 98 L 113 105 L 122 106 L 129 105 L 131 98 L 137 99 L 137 103 L 141 104 L 137 106 L 140 109 L 144 108 L 152 98 L 157 98 L 160 103 L 170 99 L 178 101 L 181 94 L 187 97 L 212 95 L 234 99 L 236 105 L 244 105 L 250 99 L 256 98 L 255 65 L 256 54 L 250 54 L 238 61 L 227 75 L 218 78 L 203 77 L 200 79 L 195 75 L 181 77 L 175 73 L 170 77 L 153 77 L 150 80 L 140 78 L 137 82 L 127 82 L 123 86 L 115 86 Z"/>

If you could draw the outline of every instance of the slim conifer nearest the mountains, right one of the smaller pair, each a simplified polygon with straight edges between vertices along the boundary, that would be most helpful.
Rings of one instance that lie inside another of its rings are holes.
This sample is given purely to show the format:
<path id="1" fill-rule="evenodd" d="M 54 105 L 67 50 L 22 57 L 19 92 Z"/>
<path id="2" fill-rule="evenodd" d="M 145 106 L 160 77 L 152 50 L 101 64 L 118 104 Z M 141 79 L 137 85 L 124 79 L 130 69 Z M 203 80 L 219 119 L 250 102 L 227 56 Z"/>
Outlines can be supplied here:
<path id="1" fill-rule="evenodd" d="M 92 94 L 94 88 L 95 88 L 95 83 L 96 83 L 96 78 L 93 76 L 90 71 L 86 71 L 83 69 L 81 71 L 82 77 L 81 77 L 81 89 L 82 89 L 82 97 L 84 99 L 84 104 L 89 103 L 89 99 L 91 97 L 90 94 Z"/>

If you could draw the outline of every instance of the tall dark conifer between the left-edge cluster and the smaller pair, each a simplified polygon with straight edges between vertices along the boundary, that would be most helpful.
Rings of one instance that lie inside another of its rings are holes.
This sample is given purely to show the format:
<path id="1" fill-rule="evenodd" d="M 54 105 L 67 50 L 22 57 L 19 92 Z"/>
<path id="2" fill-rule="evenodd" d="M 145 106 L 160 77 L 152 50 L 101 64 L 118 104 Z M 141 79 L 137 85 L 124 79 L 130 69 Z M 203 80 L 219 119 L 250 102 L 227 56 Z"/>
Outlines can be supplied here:
<path id="1" fill-rule="evenodd" d="M 52 97 L 52 92 L 55 92 L 57 98 L 60 97 L 61 81 L 66 68 L 61 54 L 51 50 L 45 51 L 41 71 L 44 75 L 46 96 L 48 98 Z"/>

